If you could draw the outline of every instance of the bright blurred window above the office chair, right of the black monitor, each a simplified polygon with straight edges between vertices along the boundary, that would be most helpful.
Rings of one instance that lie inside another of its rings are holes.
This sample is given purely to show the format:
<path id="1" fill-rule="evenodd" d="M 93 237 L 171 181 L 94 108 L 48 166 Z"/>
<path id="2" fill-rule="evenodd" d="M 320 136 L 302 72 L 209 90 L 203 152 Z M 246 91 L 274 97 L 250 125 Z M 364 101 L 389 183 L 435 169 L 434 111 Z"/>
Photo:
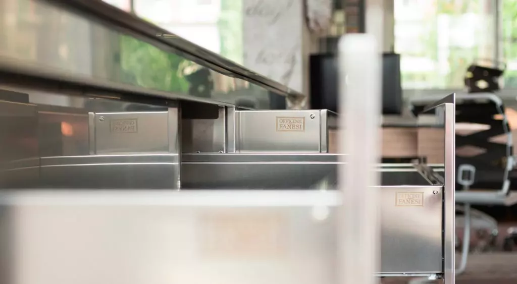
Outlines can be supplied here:
<path id="1" fill-rule="evenodd" d="M 403 88 L 463 88 L 470 64 L 495 59 L 496 8 L 494 0 L 394 0 Z"/>

